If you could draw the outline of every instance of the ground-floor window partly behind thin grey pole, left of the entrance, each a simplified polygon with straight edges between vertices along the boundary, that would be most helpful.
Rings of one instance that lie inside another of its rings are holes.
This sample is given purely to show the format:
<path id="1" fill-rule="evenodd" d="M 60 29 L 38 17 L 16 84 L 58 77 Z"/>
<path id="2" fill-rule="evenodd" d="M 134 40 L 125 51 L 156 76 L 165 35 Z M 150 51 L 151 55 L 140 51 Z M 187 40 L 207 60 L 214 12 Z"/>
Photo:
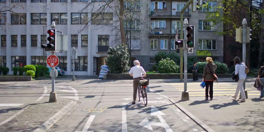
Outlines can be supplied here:
<path id="1" fill-rule="evenodd" d="M 88 70 L 88 57 L 87 56 L 78 56 L 78 59 L 75 60 L 75 71 L 87 71 Z M 72 60 L 72 70 L 73 70 L 73 60 Z"/>

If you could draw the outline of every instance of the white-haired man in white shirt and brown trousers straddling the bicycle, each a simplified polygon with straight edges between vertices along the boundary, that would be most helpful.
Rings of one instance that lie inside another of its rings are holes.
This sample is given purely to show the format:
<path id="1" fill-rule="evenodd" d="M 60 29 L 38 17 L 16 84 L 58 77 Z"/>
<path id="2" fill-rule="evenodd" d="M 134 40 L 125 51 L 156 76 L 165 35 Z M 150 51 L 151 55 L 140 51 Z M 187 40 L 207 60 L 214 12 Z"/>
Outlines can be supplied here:
<path id="1" fill-rule="evenodd" d="M 129 75 L 131 77 L 133 77 L 133 88 L 134 88 L 134 91 L 133 91 L 133 102 L 131 104 L 136 104 L 136 97 L 137 97 L 137 91 L 138 91 L 138 79 L 141 79 L 142 78 L 142 74 L 144 74 L 143 77 L 146 77 L 146 72 L 145 70 L 143 69 L 143 67 L 140 66 L 140 62 L 138 60 L 135 60 L 134 61 L 134 65 L 130 71 L 129 71 Z"/>

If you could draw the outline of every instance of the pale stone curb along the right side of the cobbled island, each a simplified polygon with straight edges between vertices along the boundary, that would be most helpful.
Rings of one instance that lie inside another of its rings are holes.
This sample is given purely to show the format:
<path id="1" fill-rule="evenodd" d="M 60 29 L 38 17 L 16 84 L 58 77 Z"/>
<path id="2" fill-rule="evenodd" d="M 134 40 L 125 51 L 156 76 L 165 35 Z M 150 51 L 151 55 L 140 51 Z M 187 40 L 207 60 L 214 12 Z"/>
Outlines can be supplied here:
<path id="1" fill-rule="evenodd" d="M 62 110 L 57 112 L 55 115 L 50 117 L 48 121 L 44 122 L 39 128 L 34 130 L 33 132 L 45 132 L 48 131 L 62 116 L 64 116 L 73 106 L 77 104 L 76 101 L 71 100 L 70 104 L 65 106 Z"/>

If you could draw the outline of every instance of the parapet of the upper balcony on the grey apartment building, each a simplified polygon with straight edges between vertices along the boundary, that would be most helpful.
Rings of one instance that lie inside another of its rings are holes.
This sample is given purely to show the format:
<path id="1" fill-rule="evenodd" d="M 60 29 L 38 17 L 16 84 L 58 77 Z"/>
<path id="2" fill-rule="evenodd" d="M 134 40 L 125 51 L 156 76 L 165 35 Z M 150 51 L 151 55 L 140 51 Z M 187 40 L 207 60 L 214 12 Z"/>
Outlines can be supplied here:
<path id="1" fill-rule="evenodd" d="M 149 16 L 181 16 L 176 9 L 149 9 Z M 183 16 L 189 16 L 189 12 L 183 12 Z"/>

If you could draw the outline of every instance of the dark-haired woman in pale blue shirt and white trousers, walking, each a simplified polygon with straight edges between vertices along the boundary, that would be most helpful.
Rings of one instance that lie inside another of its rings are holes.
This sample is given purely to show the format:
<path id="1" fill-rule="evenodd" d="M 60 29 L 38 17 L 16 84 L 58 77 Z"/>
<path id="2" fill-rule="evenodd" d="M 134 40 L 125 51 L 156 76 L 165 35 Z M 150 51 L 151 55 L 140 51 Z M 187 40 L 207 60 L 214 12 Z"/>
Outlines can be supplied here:
<path id="1" fill-rule="evenodd" d="M 245 72 L 246 65 L 244 62 L 241 62 L 239 57 L 235 57 L 234 65 L 235 65 L 235 75 L 238 74 L 239 79 L 237 82 L 236 93 L 232 97 L 234 99 L 236 99 L 236 97 L 238 96 L 238 92 L 240 90 L 240 94 L 242 96 L 242 99 L 239 99 L 238 101 L 245 102 L 246 101 L 246 95 L 245 95 L 245 92 L 243 89 L 243 82 L 245 81 L 246 76 L 247 76 L 247 74 Z"/>

